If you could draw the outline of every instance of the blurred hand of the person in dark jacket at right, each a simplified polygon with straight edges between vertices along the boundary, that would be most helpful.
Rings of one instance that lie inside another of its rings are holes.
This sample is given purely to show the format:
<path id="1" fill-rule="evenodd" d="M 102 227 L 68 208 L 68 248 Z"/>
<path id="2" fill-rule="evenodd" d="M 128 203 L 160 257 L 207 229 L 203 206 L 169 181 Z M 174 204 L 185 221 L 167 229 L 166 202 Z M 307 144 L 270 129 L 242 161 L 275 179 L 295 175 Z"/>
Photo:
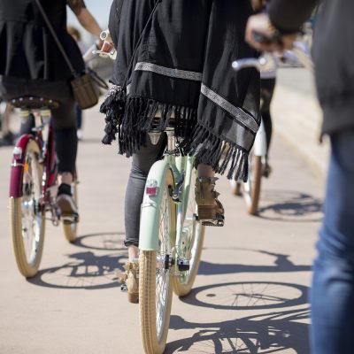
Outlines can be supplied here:
<path id="1" fill-rule="evenodd" d="M 250 17 L 246 27 L 246 42 L 259 51 L 289 50 L 296 34 L 280 35 L 266 13 Z"/>

